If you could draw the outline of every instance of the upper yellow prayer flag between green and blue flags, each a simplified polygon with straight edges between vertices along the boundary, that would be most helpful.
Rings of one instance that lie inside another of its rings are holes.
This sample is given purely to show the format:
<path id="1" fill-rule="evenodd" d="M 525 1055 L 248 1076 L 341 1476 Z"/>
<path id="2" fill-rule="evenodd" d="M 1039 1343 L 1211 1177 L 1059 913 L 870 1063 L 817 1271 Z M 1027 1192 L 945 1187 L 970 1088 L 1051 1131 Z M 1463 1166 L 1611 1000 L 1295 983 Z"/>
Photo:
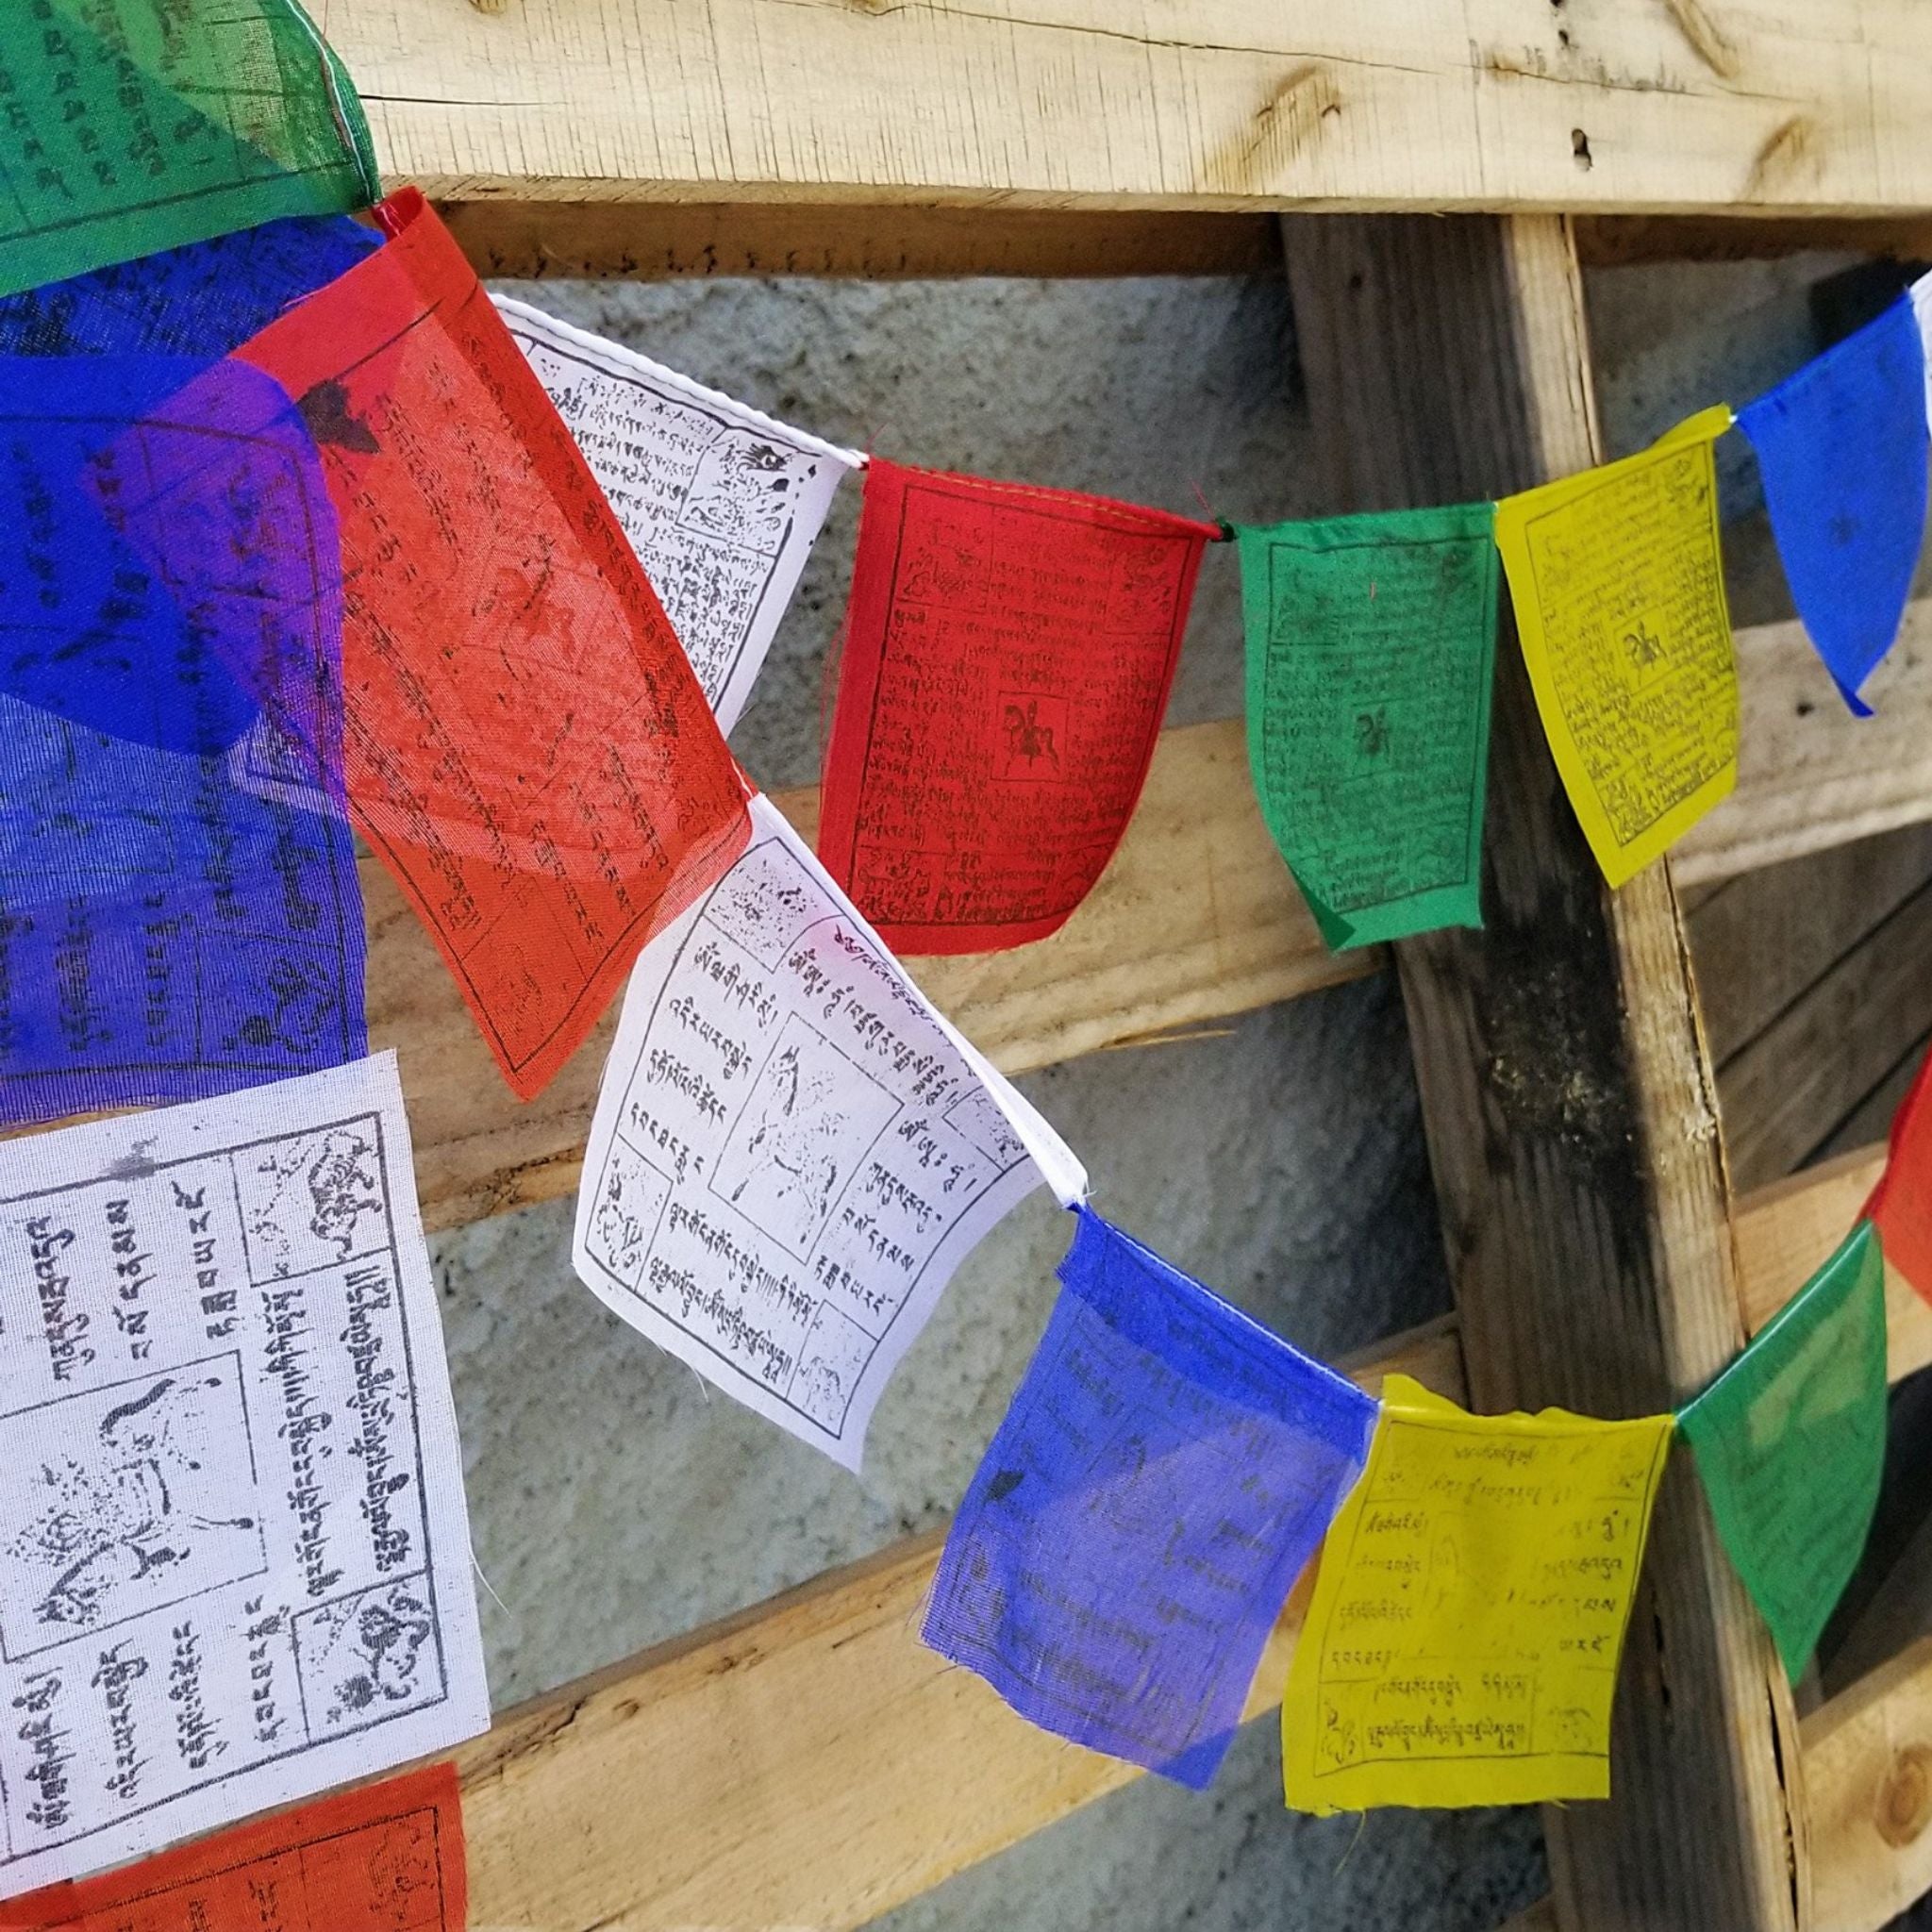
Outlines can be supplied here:
<path id="1" fill-rule="evenodd" d="M 1636 456 L 1495 506 L 1536 709 L 1611 885 L 1737 782 L 1712 462 L 1729 427 L 1718 404 Z"/>

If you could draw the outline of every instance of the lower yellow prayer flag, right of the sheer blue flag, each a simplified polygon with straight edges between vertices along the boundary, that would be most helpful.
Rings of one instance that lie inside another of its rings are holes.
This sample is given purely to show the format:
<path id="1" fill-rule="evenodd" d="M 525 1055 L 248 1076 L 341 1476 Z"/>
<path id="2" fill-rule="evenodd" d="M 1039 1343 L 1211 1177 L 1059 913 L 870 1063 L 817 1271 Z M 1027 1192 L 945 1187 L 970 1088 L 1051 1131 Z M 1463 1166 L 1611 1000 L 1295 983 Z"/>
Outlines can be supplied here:
<path id="1" fill-rule="evenodd" d="M 1281 1704 L 1293 1810 L 1609 1797 L 1671 1418 L 1472 1416 L 1389 1376 Z"/>

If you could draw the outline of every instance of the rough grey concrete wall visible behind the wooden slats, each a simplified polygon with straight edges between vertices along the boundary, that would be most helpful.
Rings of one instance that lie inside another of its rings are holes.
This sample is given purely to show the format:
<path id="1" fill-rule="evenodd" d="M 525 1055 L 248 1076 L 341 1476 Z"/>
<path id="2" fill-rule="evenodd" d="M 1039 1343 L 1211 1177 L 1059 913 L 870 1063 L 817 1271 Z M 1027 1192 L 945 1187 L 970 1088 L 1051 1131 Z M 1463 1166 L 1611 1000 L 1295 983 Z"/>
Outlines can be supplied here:
<path id="1" fill-rule="evenodd" d="M 1679 390 L 1692 390 L 1685 408 L 1712 394 L 1696 386 L 1712 352 L 1660 357 L 1669 328 L 1642 299 L 1671 298 L 1631 274 L 1629 298 L 1611 298 L 1629 327 L 1607 386 L 1625 446 L 1662 427 L 1648 415 L 1683 413 Z M 1729 286 L 1729 303 L 1706 303 L 1700 340 L 1752 305 L 1797 328 L 1789 278 Z M 512 292 L 912 462 L 1175 510 L 1206 498 L 1236 520 L 1323 508 L 1281 282 Z M 1774 323 L 1747 334 L 1764 342 Z M 736 734 L 765 784 L 817 775 L 856 512 L 848 485 Z M 1238 711 L 1238 582 L 1219 547 L 1171 719 Z M 1389 980 L 1022 1086 L 1088 1161 L 1105 1213 L 1289 1339 L 1333 1356 L 1447 1308 Z M 435 1244 L 498 1708 L 941 1522 L 1037 1341 L 1066 1240 L 1065 1217 L 1036 1198 L 981 1246 L 881 1403 L 864 1478 L 850 1478 L 605 1314 L 570 1273 L 568 1225 L 558 1202 Z M 1546 1884 L 1530 1814 L 1316 1824 L 1291 1818 L 1279 1789 L 1262 1723 L 1209 1795 L 1144 1779 L 881 1924 L 1484 1932 Z"/>

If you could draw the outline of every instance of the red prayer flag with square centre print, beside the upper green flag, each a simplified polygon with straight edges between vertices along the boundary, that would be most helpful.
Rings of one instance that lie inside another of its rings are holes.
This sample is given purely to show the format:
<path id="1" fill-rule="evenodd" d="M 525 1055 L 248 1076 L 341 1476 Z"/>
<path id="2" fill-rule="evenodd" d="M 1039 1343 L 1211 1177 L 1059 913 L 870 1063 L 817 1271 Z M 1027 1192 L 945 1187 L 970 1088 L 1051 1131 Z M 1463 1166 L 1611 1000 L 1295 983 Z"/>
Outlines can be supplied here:
<path id="1" fill-rule="evenodd" d="M 866 471 L 819 858 L 898 952 L 1045 939 L 1140 798 L 1211 524 Z"/>

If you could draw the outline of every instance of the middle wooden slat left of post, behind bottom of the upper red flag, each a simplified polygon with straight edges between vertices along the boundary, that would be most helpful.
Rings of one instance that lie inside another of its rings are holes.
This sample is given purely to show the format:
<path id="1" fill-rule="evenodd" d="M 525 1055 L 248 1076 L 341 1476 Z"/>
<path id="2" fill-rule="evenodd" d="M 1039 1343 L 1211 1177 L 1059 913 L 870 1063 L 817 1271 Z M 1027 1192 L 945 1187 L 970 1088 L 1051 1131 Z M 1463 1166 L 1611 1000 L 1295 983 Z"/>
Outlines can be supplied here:
<path id="1" fill-rule="evenodd" d="M 1163 732 L 1126 838 L 1051 939 L 1012 952 L 912 960 L 914 978 L 1005 1072 L 1248 1012 L 1374 972 L 1331 954 L 1262 825 L 1238 721 Z M 817 792 L 777 794 L 806 838 Z M 431 1229 L 551 1200 L 578 1184 L 614 1010 L 527 1105 L 498 1078 L 421 925 L 375 860 L 369 1037 L 396 1047 Z"/>

